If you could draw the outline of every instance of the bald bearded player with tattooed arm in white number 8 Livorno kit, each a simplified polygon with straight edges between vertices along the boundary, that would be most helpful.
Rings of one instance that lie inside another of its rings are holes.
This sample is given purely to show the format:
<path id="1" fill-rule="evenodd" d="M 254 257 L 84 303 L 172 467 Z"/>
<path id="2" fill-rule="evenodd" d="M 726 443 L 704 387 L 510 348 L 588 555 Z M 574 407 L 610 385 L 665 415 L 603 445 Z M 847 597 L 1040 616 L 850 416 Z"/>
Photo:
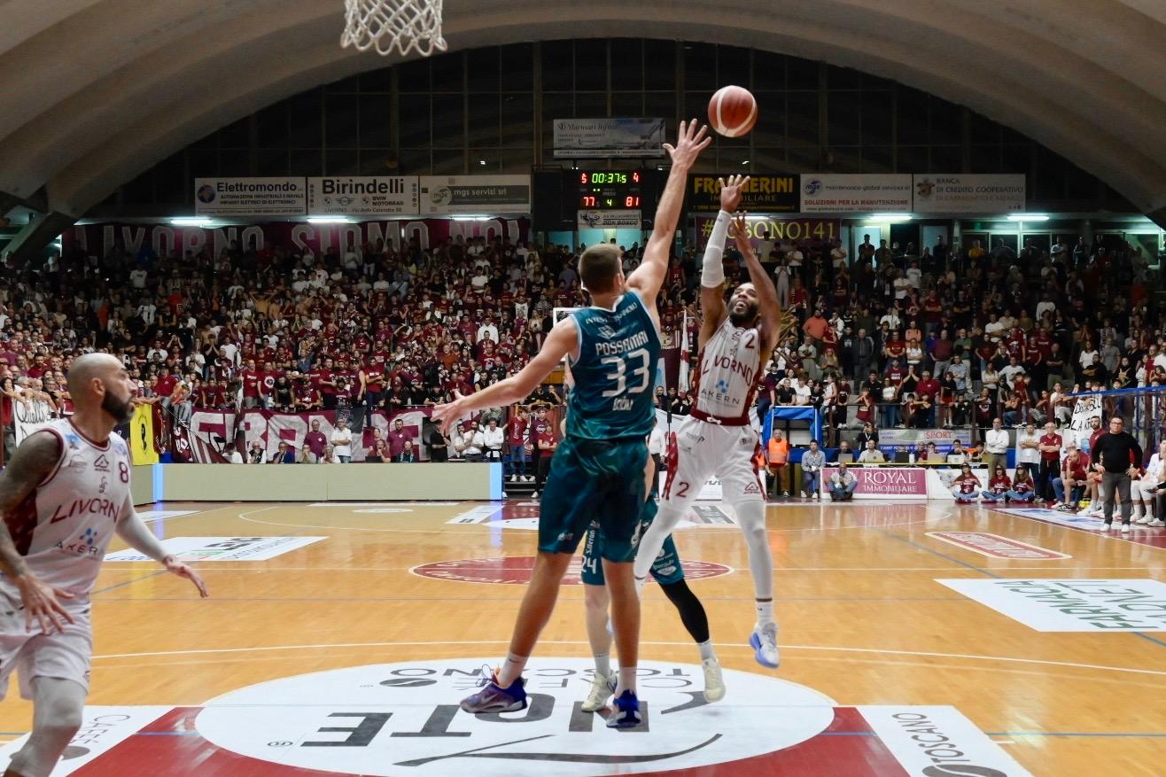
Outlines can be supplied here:
<path id="1" fill-rule="evenodd" d="M 90 593 L 114 533 L 206 596 L 134 512 L 129 449 L 112 434 L 134 385 L 121 362 L 87 354 L 69 369 L 77 412 L 29 435 L 0 473 L 0 699 L 13 670 L 33 732 L 5 777 L 47 777 L 82 723 L 93 653 Z"/>

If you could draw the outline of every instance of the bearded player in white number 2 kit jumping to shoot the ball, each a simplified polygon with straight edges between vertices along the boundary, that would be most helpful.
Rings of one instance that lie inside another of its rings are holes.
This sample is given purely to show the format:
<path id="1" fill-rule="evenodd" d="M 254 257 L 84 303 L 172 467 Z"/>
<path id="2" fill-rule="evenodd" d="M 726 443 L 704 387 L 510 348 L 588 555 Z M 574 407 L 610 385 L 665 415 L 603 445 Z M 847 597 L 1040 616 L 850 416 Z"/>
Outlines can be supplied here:
<path id="1" fill-rule="evenodd" d="M 750 424 L 761 365 L 778 344 L 781 307 L 778 292 L 749 244 L 745 217 L 733 223 L 737 247 L 752 284 L 738 286 L 725 307 L 724 253 L 731 214 L 747 177 L 721 182 L 721 212 L 704 251 L 701 271 L 700 365 L 693 412 L 680 422 L 668 444 L 668 476 L 660 513 L 640 539 L 635 582 L 642 586 L 665 539 L 700 494 L 710 475 L 721 480 L 722 497 L 737 513 L 749 544 L 749 567 L 757 597 L 757 624 L 750 636 L 759 664 L 777 668 L 778 625 L 773 620 L 773 554 L 765 531 L 765 490 L 757 475 L 758 436 Z"/>

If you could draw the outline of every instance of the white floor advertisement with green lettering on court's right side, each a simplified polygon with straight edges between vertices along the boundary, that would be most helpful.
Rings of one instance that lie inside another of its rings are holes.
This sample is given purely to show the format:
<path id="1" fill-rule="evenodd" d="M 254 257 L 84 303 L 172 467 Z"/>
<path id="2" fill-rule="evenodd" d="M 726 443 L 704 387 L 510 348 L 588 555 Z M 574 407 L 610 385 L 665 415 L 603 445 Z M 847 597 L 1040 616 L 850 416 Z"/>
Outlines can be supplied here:
<path id="1" fill-rule="evenodd" d="M 1166 583 L 1123 580 L 936 580 L 1035 631 L 1166 631 Z"/>

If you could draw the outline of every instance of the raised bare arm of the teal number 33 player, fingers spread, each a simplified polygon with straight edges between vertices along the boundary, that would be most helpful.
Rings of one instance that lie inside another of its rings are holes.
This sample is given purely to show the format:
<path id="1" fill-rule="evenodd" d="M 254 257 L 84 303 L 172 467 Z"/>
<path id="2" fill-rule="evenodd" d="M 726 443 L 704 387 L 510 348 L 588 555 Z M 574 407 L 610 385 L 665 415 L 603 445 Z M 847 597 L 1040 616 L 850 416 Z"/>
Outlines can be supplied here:
<path id="1" fill-rule="evenodd" d="M 644 261 L 627 279 L 627 288 L 635 290 L 648 303 L 649 310 L 655 309 L 656 295 L 660 294 L 660 287 L 668 274 L 668 254 L 672 252 L 676 222 L 680 220 L 680 209 L 684 204 L 688 172 L 693 169 L 701 152 L 712 142 L 712 138 L 707 136 L 709 128 L 697 124 L 696 119 L 691 123 L 681 121 L 680 139 L 675 147 L 672 144 L 663 145 L 665 150 L 672 156 L 672 170 L 668 173 L 668 182 L 656 206 L 652 237 L 644 246 Z"/>

